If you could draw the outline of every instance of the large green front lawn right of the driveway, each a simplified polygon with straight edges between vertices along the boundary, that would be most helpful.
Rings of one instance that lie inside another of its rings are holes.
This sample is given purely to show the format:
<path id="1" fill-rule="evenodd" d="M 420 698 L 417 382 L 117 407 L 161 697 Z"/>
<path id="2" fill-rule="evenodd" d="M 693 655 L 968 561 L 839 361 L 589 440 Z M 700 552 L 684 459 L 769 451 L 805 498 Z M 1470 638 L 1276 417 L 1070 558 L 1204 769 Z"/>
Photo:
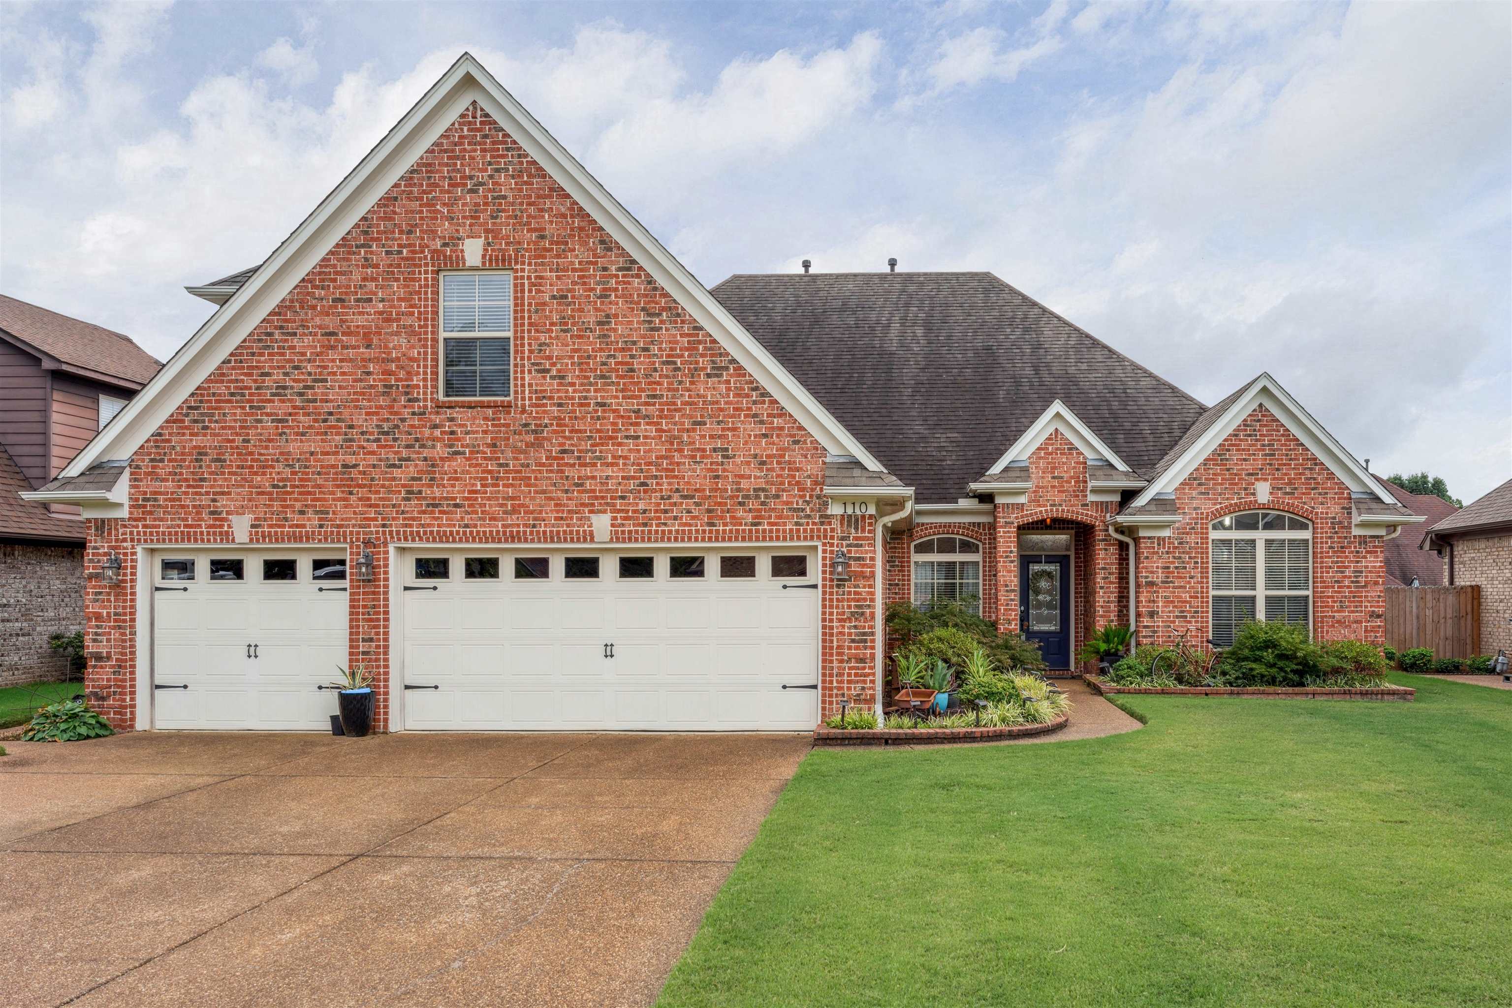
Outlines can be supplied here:
<path id="1" fill-rule="evenodd" d="M 818 750 L 659 1003 L 1509 1005 L 1512 692 L 1393 682 Z"/>

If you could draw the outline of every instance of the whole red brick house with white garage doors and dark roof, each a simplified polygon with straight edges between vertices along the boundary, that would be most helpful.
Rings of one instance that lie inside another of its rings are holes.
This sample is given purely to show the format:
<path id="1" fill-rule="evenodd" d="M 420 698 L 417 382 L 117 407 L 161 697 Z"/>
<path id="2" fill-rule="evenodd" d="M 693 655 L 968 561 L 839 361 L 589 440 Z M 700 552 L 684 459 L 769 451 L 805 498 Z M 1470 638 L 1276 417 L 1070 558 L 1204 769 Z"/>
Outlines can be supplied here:
<path id="1" fill-rule="evenodd" d="M 1207 407 L 990 274 L 700 284 L 470 56 L 36 500 L 118 727 L 792 730 L 885 604 L 1380 641 L 1421 521 L 1269 375 Z"/>

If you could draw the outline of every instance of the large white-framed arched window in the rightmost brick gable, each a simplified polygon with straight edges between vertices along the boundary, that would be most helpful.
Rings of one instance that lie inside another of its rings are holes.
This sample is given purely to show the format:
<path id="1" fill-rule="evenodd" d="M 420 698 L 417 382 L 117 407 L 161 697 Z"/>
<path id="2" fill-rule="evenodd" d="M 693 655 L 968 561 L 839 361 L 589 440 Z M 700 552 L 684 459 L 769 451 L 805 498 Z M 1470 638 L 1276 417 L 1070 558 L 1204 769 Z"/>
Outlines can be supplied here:
<path id="1" fill-rule="evenodd" d="M 1219 518 L 1213 536 L 1213 641 L 1234 642 L 1247 620 L 1312 624 L 1312 524 L 1279 511 Z"/>

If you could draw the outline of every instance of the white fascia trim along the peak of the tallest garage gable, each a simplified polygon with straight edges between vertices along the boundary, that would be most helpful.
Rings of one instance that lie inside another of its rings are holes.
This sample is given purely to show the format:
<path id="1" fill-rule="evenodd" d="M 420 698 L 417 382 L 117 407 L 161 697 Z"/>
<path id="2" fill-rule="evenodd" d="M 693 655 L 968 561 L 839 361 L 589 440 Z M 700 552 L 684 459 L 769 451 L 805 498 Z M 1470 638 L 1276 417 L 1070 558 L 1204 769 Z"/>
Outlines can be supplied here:
<path id="1" fill-rule="evenodd" d="M 321 201 L 253 278 L 236 289 L 141 393 L 64 468 L 129 458 L 346 234 L 435 139 L 476 101 L 829 452 L 881 464 L 735 320 L 470 53 L 431 86 L 387 136 Z"/>

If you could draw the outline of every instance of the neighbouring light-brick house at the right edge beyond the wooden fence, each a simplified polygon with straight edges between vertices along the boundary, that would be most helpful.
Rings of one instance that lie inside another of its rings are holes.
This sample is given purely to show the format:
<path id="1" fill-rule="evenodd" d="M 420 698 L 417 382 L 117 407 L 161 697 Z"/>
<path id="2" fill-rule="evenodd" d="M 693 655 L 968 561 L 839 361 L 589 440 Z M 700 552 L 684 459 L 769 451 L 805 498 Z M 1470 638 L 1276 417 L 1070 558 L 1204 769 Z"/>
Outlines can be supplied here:
<path id="1" fill-rule="evenodd" d="M 1445 585 L 1480 585 L 1480 654 L 1512 651 L 1512 479 L 1423 536 Z"/>

